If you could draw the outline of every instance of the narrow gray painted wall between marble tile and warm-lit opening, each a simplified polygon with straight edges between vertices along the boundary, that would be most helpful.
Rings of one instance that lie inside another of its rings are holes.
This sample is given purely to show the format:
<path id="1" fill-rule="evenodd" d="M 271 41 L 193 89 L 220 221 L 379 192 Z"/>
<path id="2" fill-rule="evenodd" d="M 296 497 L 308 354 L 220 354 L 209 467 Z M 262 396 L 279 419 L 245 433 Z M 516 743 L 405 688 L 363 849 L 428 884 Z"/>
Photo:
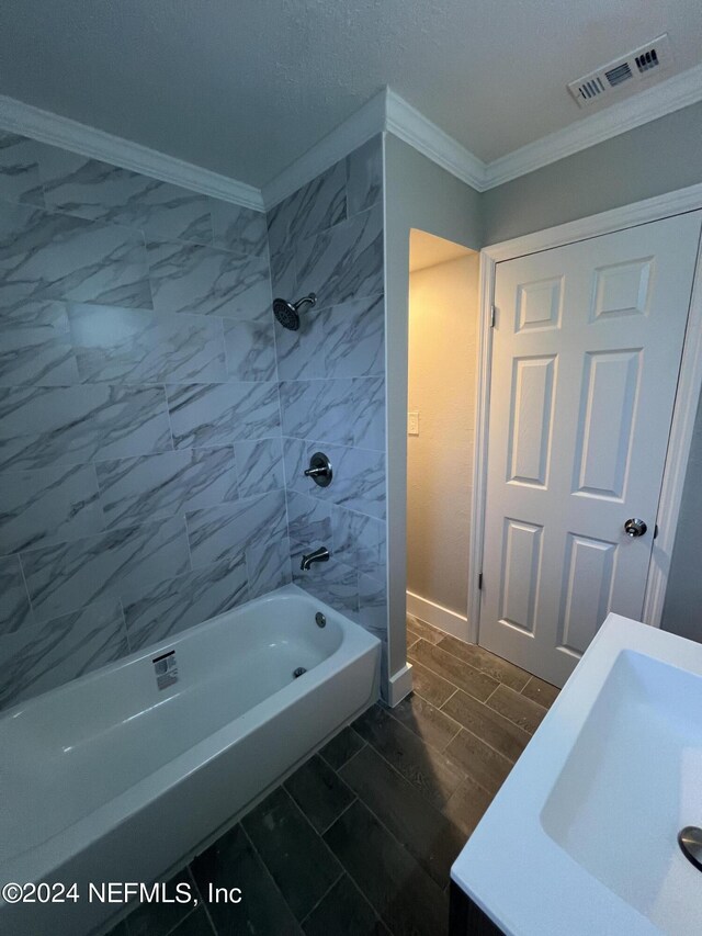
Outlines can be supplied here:
<path id="1" fill-rule="evenodd" d="M 389 674 L 406 662 L 407 361 L 409 232 L 419 228 L 476 250 L 480 196 L 392 134 L 385 134 Z"/>

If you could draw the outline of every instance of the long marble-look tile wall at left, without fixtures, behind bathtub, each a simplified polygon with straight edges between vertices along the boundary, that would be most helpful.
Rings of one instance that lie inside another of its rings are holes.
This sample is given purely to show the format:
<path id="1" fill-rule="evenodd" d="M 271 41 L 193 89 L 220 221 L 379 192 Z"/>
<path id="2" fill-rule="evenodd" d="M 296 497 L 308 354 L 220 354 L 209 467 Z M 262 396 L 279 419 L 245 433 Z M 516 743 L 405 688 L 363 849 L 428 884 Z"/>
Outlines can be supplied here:
<path id="1" fill-rule="evenodd" d="M 380 432 L 373 165 L 340 163 L 296 222 L 351 225 L 369 269 L 304 240 L 305 274 L 321 251 L 326 295 L 349 301 L 317 313 L 314 346 L 367 401 L 359 440 Z M 0 706 L 291 580 L 268 239 L 262 213 L 0 133 Z M 284 356 L 295 432 L 305 353 Z"/>

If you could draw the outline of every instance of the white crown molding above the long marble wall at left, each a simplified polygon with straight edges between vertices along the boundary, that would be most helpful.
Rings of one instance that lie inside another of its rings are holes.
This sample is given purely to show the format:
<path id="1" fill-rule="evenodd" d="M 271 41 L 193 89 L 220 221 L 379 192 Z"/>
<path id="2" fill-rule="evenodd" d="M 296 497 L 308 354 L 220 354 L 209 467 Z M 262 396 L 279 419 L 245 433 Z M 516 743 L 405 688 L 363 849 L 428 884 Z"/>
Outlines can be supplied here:
<path id="1" fill-rule="evenodd" d="M 70 117 L 42 111 L 14 98 L 0 95 L 0 127 L 41 143 L 60 146 L 91 159 L 101 159 L 133 172 L 141 172 L 161 182 L 172 182 L 214 199 L 263 211 L 261 192 L 252 185 L 89 127 Z"/>

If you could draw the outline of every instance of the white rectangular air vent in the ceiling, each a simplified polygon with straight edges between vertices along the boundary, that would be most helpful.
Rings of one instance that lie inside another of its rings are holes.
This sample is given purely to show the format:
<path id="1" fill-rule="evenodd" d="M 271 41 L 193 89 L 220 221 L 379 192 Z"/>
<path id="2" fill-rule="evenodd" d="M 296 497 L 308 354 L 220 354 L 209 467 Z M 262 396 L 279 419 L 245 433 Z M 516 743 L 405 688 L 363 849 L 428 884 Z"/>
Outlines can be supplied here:
<path id="1" fill-rule="evenodd" d="M 656 78 L 666 77 L 671 61 L 670 41 L 668 34 L 664 33 L 629 55 L 603 65 L 577 81 L 571 81 L 568 91 L 580 108 L 587 108 L 618 88 L 633 88 L 642 79 L 646 79 L 646 84 L 653 84 Z"/>

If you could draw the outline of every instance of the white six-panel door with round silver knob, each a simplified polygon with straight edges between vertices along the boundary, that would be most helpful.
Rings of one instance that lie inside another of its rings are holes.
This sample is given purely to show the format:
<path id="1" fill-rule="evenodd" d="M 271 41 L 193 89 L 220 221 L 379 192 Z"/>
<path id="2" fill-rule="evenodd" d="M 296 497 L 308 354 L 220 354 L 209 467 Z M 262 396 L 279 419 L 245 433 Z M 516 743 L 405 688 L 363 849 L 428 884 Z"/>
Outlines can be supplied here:
<path id="1" fill-rule="evenodd" d="M 556 685 L 641 619 L 700 226 L 497 266 L 479 642 Z"/>

